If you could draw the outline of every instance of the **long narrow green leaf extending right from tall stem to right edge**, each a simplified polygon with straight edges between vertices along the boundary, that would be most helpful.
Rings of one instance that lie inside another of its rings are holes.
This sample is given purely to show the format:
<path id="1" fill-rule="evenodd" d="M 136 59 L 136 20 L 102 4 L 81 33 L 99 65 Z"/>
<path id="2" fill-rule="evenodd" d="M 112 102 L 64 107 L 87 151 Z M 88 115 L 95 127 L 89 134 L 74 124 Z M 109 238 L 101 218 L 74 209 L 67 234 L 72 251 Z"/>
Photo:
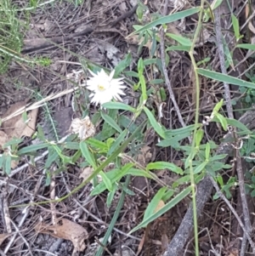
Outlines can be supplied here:
<path id="1" fill-rule="evenodd" d="M 235 84 L 235 85 L 238 85 L 241 87 L 246 87 L 246 88 L 255 88 L 255 83 L 253 83 L 253 82 L 246 82 L 239 78 L 231 77 L 229 75 L 224 75 L 219 72 L 208 71 L 208 70 L 205 70 L 202 68 L 198 68 L 197 72 L 204 77 L 209 77 L 209 78 L 212 78 L 212 79 L 220 81 L 220 82 L 227 82 L 229 84 Z"/>

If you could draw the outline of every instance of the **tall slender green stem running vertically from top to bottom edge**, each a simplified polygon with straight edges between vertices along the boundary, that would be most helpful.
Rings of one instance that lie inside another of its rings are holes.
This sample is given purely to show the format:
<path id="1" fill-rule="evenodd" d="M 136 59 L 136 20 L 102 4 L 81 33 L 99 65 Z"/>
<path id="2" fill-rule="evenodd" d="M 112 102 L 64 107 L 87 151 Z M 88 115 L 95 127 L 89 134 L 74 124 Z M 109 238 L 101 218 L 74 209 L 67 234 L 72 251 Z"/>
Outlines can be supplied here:
<path id="1" fill-rule="evenodd" d="M 192 145 L 191 145 L 191 152 L 195 152 L 195 133 L 197 131 L 198 127 L 198 117 L 199 117 L 199 98 L 200 98 L 200 83 L 199 83 L 199 77 L 197 73 L 197 65 L 195 63 L 195 58 L 194 58 L 194 48 L 195 48 L 195 42 L 197 38 L 199 38 L 199 34 L 201 31 L 201 23 L 202 23 L 202 17 L 203 17 L 203 7 L 204 7 L 205 0 L 201 0 L 201 10 L 199 14 L 199 20 L 198 20 L 198 25 L 195 30 L 195 35 L 193 39 L 193 43 L 190 48 L 190 59 L 194 68 L 194 73 L 195 73 L 195 130 L 194 130 L 194 135 L 193 135 L 193 140 L 192 140 Z M 191 153 L 192 154 L 192 153 Z M 195 256 L 199 256 L 199 245 L 198 245 L 198 227 L 197 227 L 197 216 L 196 216 L 196 204 L 195 204 L 195 177 L 194 177 L 194 171 L 193 171 L 193 158 L 195 154 L 190 157 L 189 165 L 190 165 L 190 184 L 192 188 L 192 205 L 193 205 L 193 219 L 194 219 L 194 235 L 195 235 Z"/>

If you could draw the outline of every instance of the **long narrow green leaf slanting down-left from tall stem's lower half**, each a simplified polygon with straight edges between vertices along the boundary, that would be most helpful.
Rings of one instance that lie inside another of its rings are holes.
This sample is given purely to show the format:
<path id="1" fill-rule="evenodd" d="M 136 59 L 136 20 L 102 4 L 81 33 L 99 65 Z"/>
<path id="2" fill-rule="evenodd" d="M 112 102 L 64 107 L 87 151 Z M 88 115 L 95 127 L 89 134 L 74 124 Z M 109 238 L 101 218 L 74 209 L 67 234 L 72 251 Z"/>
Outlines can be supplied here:
<path id="1" fill-rule="evenodd" d="M 133 230 L 131 230 L 129 232 L 129 234 L 133 233 L 136 230 L 139 230 L 142 227 L 147 226 L 150 222 L 152 222 L 153 220 L 159 218 L 162 214 L 167 213 L 167 211 L 169 211 L 171 208 L 173 208 L 175 205 L 177 205 L 178 202 L 182 201 L 184 199 L 184 197 L 188 196 L 190 194 L 190 191 L 191 191 L 191 186 L 189 186 L 186 189 L 184 189 L 184 191 L 181 191 L 170 202 L 167 202 L 167 204 L 164 207 L 162 207 L 156 213 L 153 213 L 152 215 L 150 215 L 149 218 L 144 219 L 142 221 L 142 223 L 140 223 L 135 228 L 133 228 Z"/>

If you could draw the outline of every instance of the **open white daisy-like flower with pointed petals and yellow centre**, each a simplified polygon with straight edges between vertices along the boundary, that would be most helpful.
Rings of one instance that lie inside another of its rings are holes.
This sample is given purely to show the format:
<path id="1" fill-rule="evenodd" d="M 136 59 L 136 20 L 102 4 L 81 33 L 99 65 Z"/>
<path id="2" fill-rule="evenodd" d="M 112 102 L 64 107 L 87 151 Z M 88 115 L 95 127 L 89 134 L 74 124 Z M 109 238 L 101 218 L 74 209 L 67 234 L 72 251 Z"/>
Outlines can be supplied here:
<path id="1" fill-rule="evenodd" d="M 120 95 L 125 95 L 122 89 L 126 86 L 122 85 L 123 78 L 113 78 L 114 70 L 111 71 L 110 76 L 103 69 L 97 74 L 93 71 L 89 72 L 93 76 L 89 77 L 90 79 L 87 82 L 88 90 L 92 91 L 92 94 L 89 95 L 92 103 L 102 105 L 112 99 L 122 101 Z"/>

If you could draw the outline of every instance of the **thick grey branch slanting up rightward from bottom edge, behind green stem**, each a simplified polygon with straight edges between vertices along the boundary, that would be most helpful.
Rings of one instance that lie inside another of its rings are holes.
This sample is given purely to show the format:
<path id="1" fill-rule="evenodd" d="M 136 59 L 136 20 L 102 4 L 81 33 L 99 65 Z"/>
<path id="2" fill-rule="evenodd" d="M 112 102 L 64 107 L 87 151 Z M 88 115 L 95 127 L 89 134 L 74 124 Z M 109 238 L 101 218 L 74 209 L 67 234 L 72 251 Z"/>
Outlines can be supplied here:
<path id="1" fill-rule="evenodd" d="M 255 128 L 255 117 L 254 110 L 246 111 L 246 113 L 240 117 L 240 122 L 246 125 L 247 128 L 252 129 Z M 231 139 L 232 134 L 227 134 L 225 139 L 226 141 Z M 231 155 L 233 152 L 233 146 L 230 144 L 222 143 L 218 146 L 218 150 L 216 151 L 217 155 L 226 154 L 227 156 Z M 221 162 L 225 162 L 226 158 L 221 160 Z M 204 208 L 206 202 L 210 198 L 212 194 L 212 182 L 209 176 L 206 176 L 201 180 L 199 185 L 197 185 L 197 193 L 196 193 L 196 209 L 197 215 L 200 216 L 202 209 Z M 173 236 L 172 241 L 169 243 L 167 247 L 167 252 L 164 256 L 179 256 L 183 255 L 182 251 L 184 249 L 185 244 L 187 243 L 191 232 L 193 231 L 193 208 L 190 204 L 187 213 L 184 216 L 184 219 L 179 225 L 176 234 Z"/>

